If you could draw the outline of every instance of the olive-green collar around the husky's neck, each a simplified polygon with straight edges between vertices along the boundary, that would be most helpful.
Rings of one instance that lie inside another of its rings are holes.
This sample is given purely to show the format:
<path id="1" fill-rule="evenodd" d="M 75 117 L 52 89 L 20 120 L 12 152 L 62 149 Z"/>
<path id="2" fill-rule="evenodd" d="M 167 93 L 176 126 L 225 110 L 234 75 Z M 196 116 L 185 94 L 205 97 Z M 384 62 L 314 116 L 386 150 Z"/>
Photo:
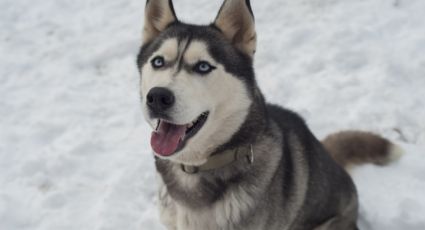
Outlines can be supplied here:
<path id="1" fill-rule="evenodd" d="M 226 150 L 220 154 L 210 156 L 207 162 L 200 166 L 181 164 L 181 168 L 183 172 L 188 174 L 195 174 L 198 172 L 222 168 L 244 158 L 247 160 L 248 164 L 254 163 L 254 151 L 252 150 L 252 145 L 244 148 Z"/>

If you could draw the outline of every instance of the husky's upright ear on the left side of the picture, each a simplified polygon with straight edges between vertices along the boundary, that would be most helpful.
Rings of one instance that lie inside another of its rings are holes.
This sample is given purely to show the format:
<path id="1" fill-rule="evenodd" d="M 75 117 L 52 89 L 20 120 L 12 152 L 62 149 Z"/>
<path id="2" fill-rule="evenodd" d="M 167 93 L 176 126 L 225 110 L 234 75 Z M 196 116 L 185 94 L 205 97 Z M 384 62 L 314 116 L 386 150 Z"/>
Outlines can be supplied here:
<path id="1" fill-rule="evenodd" d="M 143 44 L 158 36 L 170 23 L 177 21 L 171 0 L 147 0 Z"/>

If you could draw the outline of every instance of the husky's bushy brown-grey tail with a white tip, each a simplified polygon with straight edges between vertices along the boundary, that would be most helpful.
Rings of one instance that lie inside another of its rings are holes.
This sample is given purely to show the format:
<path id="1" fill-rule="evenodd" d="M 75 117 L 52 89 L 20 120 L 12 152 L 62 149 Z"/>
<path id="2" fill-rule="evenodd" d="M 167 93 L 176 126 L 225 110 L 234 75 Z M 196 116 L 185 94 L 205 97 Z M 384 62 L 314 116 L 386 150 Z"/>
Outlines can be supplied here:
<path id="1" fill-rule="evenodd" d="M 343 131 L 331 134 L 322 144 L 333 159 L 347 170 L 364 163 L 386 165 L 403 155 L 398 145 L 369 132 Z"/>

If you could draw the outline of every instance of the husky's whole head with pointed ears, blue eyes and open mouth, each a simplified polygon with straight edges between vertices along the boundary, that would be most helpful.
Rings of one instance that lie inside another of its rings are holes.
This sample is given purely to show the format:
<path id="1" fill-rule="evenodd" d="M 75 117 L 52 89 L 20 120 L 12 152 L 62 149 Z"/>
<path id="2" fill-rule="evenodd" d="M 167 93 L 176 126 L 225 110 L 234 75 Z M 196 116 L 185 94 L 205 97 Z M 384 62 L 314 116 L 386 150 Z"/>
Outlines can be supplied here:
<path id="1" fill-rule="evenodd" d="M 149 0 L 143 38 L 138 65 L 152 149 L 202 164 L 237 132 L 252 103 L 249 2 L 227 0 L 213 25 L 193 26 L 177 21 L 171 1 Z"/>

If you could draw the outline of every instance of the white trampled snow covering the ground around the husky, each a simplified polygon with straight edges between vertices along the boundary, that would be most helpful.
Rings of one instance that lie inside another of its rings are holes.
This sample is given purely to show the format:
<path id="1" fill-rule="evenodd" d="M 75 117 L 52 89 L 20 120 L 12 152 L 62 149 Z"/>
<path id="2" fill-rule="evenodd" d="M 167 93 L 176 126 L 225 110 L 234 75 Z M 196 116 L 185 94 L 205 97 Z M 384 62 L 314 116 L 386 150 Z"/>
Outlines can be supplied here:
<path id="1" fill-rule="evenodd" d="M 135 65 L 144 0 L 0 2 L 0 229 L 163 229 Z M 220 1 L 175 0 L 210 22 Z M 425 229 L 425 1 L 252 1 L 266 97 L 318 137 L 405 149 L 354 170 L 361 229 Z"/>

